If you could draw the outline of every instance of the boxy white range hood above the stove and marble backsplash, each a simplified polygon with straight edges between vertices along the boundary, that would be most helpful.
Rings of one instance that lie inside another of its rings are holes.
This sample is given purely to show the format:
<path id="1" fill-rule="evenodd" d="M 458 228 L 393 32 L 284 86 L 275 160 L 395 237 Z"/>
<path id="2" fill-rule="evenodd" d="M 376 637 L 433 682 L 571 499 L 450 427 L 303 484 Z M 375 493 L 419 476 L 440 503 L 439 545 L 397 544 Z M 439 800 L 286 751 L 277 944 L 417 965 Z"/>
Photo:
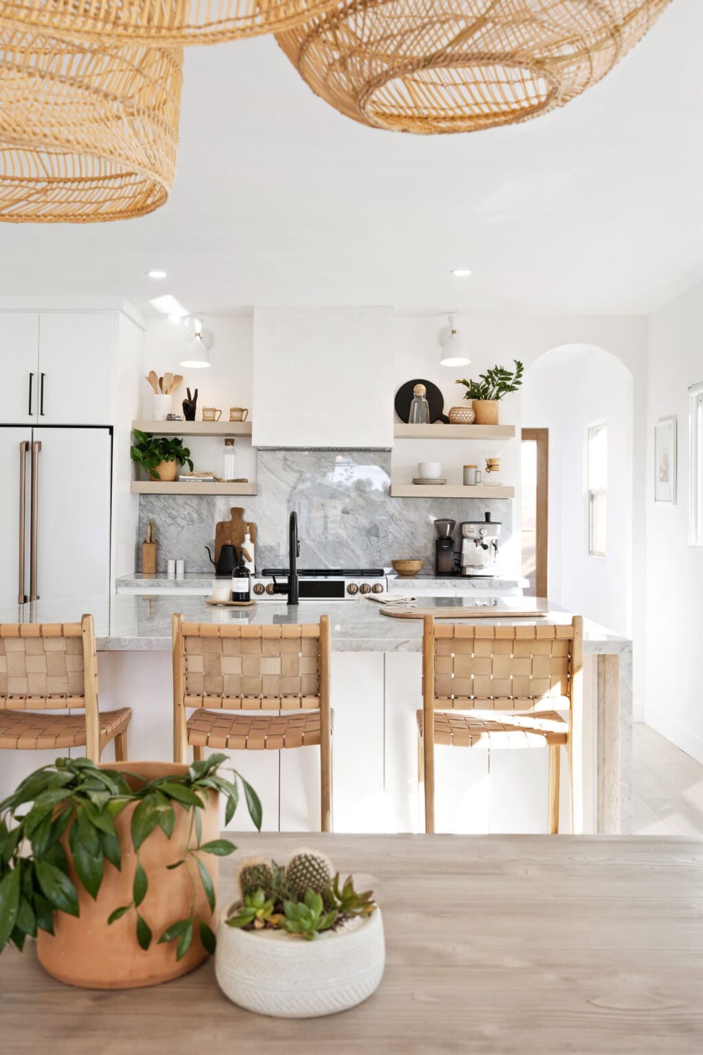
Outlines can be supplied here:
<path id="1" fill-rule="evenodd" d="M 252 443 L 393 445 L 393 309 L 255 308 Z"/>

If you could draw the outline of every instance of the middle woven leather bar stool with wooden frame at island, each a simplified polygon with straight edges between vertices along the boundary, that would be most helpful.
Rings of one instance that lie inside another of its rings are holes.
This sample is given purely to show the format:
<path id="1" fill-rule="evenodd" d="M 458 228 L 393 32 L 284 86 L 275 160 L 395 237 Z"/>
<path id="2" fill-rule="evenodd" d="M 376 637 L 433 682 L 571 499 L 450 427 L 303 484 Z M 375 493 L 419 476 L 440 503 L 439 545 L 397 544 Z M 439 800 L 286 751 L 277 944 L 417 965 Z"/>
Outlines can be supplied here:
<path id="1" fill-rule="evenodd" d="M 174 762 L 185 762 L 189 746 L 195 759 L 206 747 L 278 751 L 318 746 L 321 830 L 331 831 L 329 615 L 319 624 L 273 627 L 183 622 L 174 615 L 173 699 Z"/>

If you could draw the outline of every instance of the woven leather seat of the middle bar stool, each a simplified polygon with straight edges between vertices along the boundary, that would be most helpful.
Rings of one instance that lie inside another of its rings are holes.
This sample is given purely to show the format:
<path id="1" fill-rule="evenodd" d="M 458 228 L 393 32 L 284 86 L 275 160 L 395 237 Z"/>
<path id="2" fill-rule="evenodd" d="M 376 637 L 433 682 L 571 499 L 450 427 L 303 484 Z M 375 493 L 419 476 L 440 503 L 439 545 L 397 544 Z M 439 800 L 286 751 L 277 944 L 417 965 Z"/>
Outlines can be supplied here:
<path id="1" fill-rule="evenodd" d="M 193 747 L 236 751 L 279 751 L 286 747 L 319 746 L 319 711 L 298 714 L 229 714 L 194 711 L 188 720 L 188 743 Z"/>

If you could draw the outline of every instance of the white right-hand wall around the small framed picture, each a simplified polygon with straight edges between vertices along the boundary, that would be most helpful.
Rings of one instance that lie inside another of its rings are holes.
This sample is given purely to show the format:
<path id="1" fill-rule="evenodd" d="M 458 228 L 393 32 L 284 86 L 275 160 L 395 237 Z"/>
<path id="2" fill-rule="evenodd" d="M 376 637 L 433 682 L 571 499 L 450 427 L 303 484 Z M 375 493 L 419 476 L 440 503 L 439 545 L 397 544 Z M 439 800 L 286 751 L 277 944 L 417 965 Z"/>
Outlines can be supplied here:
<path id="1" fill-rule="evenodd" d="M 688 545 L 688 385 L 703 381 L 703 284 L 650 318 L 647 391 L 646 721 L 703 762 L 703 549 Z M 678 501 L 653 498 L 655 425 L 678 417 Z"/>

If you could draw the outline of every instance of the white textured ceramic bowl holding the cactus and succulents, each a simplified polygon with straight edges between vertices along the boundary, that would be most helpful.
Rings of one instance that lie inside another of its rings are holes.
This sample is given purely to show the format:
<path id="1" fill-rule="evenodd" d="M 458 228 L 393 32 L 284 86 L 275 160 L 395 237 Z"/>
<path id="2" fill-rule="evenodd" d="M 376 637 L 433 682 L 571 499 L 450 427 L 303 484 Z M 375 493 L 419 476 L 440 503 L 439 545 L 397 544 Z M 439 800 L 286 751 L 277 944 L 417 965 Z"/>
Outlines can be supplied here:
<path id="1" fill-rule="evenodd" d="M 376 910 L 356 929 L 306 941 L 280 931 L 217 928 L 215 974 L 224 996 L 276 1018 L 317 1018 L 353 1008 L 378 987 L 386 964 Z"/>

